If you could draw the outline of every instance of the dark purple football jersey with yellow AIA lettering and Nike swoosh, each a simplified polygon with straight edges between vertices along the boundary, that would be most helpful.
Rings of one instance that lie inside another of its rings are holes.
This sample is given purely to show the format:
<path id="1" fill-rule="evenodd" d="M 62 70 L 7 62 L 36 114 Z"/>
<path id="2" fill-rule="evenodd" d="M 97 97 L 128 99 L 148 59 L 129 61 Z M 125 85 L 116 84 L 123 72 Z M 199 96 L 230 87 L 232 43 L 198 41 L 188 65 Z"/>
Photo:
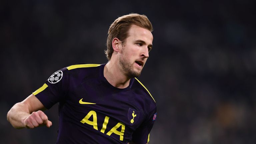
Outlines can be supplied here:
<path id="1" fill-rule="evenodd" d="M 57 144 L 145 144 L 156 119 L 156 103 L 136 78 L 116 88 L 105 64 L 77 64 L 53 73 L 33 94 L 50 109 L 59 103 Z"/>

